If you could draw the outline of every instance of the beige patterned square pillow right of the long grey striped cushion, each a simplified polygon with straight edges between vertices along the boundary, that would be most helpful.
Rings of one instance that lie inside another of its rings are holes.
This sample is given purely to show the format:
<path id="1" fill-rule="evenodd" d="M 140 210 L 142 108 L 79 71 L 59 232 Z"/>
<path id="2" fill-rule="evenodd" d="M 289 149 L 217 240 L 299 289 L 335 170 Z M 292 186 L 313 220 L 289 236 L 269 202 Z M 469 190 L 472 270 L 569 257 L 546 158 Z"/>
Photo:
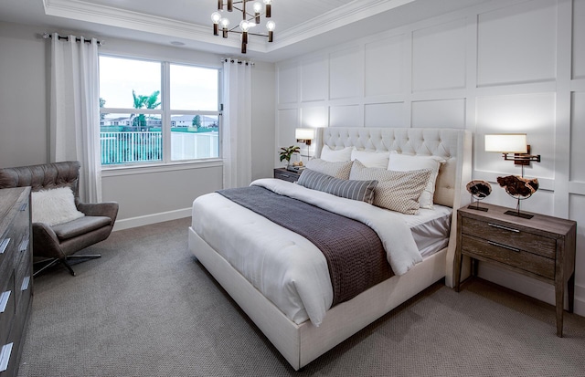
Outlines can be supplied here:
<path id="1" fill-rule="evenodd" d="M 430 169 L 394 172 L 383 168 L 367 168 L 363 163 L 355 161 L 349 178 L 377 180 L 374 205 L 406 215 L 416 215 L 420 208 L 419 196 L 426 187 L 430 175 Z"/>

